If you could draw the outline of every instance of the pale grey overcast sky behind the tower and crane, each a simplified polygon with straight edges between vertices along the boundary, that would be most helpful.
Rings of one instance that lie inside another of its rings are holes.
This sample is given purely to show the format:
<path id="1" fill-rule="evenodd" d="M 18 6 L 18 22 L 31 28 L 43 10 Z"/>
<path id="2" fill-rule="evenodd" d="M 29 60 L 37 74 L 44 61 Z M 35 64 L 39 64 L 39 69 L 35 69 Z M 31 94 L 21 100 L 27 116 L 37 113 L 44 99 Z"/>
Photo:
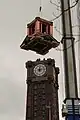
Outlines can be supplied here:
<path id="1" fill-rule="evenodd" d="M 59 0 L 54 2 L 59 5 Z M 56 66 L 60 68 L 61 110 L 64 99 L 61 52 L 51 49 L 47 55 L 41 56 L 20 49 L 20 44 L 26 36 L 27 23 L 39 16 L 39 5 L 40 0 L 0 0 L 0 120 L 25 120 L 27 88 L 25 62 L 37 58 L 53 58 Z M 53 12 L 55 15 L 60 13 L 49 0 L 42 0 L 42 17 L 51 20 L 55 17 Z M 61 30 L 60 19 L 53 24 L 59 31 Z M 60 34 L 55 29 L 53 31 L 54 37 L 60 41 Z"/>

